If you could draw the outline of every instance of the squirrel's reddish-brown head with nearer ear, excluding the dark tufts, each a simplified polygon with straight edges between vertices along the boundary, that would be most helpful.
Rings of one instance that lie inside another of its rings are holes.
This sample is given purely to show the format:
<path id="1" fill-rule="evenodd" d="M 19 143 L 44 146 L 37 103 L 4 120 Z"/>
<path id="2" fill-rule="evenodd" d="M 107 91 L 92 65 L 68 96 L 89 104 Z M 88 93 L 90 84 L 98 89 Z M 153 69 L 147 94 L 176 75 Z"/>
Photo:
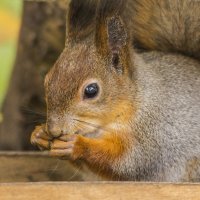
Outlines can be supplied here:
<path id="1" fill-rule="evenodd" d="M 61 134 L 100 134 L 123 129 L 134 112 L 128 33 L 118 15 L 85 39 L 67 38 L 47 74 L 47 129 Z"/>

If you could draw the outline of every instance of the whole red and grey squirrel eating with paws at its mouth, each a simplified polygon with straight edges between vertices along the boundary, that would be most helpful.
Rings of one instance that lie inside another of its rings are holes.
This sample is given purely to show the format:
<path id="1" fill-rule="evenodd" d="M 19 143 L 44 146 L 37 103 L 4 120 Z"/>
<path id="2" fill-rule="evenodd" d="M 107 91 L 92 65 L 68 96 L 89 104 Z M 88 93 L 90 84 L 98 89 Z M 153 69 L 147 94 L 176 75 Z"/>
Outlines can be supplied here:
<path id="1" fill-rule="evenodd" d="M 200 181 L 198 10 L 190 0 L 72 0 L 31 143 L 105 180 Z"/>

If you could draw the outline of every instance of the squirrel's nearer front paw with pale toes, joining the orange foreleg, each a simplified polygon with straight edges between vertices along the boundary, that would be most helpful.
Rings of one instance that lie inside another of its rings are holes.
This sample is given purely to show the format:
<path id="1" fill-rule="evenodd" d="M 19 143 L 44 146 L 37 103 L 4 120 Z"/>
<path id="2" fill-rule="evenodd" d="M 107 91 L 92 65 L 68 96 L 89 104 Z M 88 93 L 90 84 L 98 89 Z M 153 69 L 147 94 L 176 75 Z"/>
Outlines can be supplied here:
<path id="1" fill-rule="evenodd" d="M 81 135 L 64 135 L 51 144 L 50 155 L 72 160 L 79 159 L 84 153 L 84 137 Z"/>

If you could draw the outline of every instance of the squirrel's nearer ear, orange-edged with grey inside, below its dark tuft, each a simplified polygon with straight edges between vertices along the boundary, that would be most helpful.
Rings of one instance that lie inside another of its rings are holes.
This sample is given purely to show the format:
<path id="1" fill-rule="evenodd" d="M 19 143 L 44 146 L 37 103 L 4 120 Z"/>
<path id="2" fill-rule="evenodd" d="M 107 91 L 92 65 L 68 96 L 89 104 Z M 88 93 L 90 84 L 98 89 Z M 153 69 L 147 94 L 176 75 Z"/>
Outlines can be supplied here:
<path id="1" fill-rule="evenodd" d="M 129 71 L 129 36 L 119 16 L 112 16 L 101 21 L 96 32 L 96 46 L 99 53 L 118 72 Z"/>

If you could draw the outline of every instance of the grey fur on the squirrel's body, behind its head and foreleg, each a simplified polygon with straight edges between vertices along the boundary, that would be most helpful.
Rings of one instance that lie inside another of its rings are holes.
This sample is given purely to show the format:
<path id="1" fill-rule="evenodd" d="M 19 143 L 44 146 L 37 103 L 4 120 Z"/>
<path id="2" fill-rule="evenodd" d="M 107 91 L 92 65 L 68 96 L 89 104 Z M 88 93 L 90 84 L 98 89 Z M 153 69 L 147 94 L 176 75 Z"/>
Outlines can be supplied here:
<path id="1" fill-rule="evenodd" d="M 188 171 L 188 163 L 200 159 L 200 65 L 159 52 L 135 56 L 134 63 L 136 143 L 116 170 L 125 180 L 191 181 L 187 173 L 200 170 Z M 192 178 L 200 181 L 200 174 Z"/>

